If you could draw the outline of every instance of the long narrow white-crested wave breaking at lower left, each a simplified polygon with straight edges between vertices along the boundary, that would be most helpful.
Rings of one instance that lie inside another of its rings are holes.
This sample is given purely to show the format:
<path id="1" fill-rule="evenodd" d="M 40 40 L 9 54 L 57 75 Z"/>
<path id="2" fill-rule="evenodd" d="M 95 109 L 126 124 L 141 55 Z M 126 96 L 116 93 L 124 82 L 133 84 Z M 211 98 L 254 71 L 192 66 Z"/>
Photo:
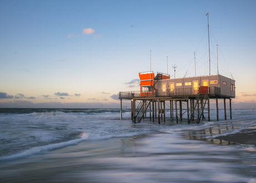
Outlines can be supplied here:
<path id="1" fill-rule="evenodd" d="M 19 152 L 14 155 L 0 157 L 0 161 L 20 159 L 22 157 L 28 157 L 28 156 L 35 155 L 35 154 L 41 154 L 42 152 L 45 152 L 45 151 L 51 151 L 51 150 L 55 150 L 55 149 L 60 149 L 62 147 L 75 145 L 75 144 L 78 144 L 87 139 L 88 139 L 88 133 L 83 132 L 80 134 L 80 139 L 75 139 L 75 140 L 71 140 L 71 141 L 67 141 L 67 142 L 61 142 L 61 143 L 57 143 L 57 144 L 50 144 L 50 145 L 46 145 L 46 146 L 32 147 L 29 150 Z"/>

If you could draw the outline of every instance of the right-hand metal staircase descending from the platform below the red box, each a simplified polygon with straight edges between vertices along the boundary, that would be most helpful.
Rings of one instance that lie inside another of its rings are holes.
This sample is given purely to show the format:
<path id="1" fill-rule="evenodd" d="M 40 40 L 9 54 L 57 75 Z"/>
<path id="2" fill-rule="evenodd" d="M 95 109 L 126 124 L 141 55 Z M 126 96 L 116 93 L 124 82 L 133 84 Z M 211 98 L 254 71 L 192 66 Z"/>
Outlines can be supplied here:
<path id="1" fill-rule="evenodd" d="M 198 90 L 198 94 L 195 97 L 194 103 L 193 103 L 193 109 L 190 111 L 189 121 L 195 121 L 196 123 L 200 122 L 200 119 L 205 119 L 204 117 L 204 108 L 205 104 L 208 104 L 208 90 L 205 91 L 205 93 L 200 92 L 200 88 Z"/>

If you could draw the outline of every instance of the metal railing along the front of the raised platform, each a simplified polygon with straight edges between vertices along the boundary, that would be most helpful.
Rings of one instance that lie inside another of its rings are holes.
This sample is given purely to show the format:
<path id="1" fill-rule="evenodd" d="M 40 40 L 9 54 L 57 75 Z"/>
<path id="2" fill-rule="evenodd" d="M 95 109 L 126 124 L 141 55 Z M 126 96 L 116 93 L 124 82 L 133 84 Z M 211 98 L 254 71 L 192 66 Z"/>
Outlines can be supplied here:
<path id="1" fill-rule="evenodd" d="M 155 97 L 188 97 L 196 95 L 199 88 L 175 88 L 166 91 L 155 90 Z M 209 95 L 220 95 L 220 88 L 216 86 L 208 87 Z M 132 98 L 132 97 L 154 97 L 154 92 L 140 92 L 140 91 L 129 91 L 119 92 L 119 98 Z"/>

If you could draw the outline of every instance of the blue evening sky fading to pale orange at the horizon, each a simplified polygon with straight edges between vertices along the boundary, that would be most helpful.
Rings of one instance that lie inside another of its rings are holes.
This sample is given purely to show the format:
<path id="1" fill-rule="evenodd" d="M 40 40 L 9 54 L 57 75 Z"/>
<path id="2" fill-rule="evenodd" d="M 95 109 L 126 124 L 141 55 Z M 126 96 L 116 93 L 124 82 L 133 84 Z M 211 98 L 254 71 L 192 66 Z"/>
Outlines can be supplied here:
<path id="1" fill-rule="evenodd" d="M 0 107 L 119 108 L 150 50 L 155 73 L 193 77 L 195 52 L 196 75 L 209 75 L 209 13 L 211 75 L 218 44 L 233 108 L 256 108 L 256 1 L 0 3 Z"/>

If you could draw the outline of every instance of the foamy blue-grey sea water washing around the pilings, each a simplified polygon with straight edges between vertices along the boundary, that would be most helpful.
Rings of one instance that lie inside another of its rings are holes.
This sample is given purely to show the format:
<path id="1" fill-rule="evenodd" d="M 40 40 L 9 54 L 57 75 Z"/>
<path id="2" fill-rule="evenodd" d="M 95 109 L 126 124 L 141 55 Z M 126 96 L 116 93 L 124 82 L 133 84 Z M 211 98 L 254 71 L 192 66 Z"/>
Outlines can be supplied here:
<path id="1" fill-rule="evenodd" d="M 256 112 L 215 114 L 159 125 L 128 109 L 0 108 L 0 182 L 255 183 L 256 147 L 214 138 L 256 131 Z"/>

